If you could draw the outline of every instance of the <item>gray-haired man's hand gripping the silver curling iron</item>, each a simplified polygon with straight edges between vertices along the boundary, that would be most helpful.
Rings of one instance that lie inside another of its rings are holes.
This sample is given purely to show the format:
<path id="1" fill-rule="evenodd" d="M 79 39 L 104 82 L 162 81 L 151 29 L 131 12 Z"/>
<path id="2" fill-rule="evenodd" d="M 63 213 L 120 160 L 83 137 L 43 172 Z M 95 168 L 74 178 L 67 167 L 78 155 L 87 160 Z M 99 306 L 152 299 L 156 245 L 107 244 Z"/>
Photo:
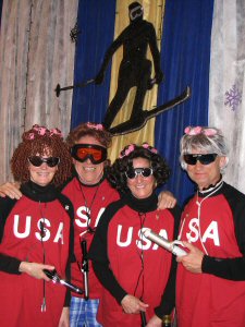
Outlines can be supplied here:
<path id="1" fill-rule="evenodd" d="M 191 272 L 199 274 L 201 271 L 201 262 L 204 258 L 204 253 L 194 246 L 192 243 L 182 242 L 185 247 L 189 250 L 187 255 L 177 256 L 176 262 L 182 263 L 182 265 Z"/>

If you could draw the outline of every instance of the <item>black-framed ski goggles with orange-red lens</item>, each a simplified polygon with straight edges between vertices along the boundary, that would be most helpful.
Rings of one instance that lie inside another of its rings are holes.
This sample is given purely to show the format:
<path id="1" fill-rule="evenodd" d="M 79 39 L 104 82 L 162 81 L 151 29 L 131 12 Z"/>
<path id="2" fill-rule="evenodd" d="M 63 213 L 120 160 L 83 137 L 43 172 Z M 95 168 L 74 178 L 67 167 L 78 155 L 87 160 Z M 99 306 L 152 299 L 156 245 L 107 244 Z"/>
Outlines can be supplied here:
<path id="1" fill-rule="evenodd" d="M 76 144 L 71 148 L 71 155 L 79 162 L 89 158 L 94 165 L 97 165 L 107 159 L 107 148 L 96 144 Z"/>

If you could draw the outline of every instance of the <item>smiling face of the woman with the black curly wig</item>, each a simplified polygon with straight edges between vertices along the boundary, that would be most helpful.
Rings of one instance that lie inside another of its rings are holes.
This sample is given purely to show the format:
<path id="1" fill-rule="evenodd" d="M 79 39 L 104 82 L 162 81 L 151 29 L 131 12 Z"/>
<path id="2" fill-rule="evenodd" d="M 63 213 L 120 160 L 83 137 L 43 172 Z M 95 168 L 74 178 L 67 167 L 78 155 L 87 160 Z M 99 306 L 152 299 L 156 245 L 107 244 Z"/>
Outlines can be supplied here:
<path id="1" fill-rule="evenodd" d="M 134 168 L 150 168 L 149 160 L 145 158 L 133 159 Z M 134 179 L 127 178 L 127 186 L 136 198 L 146 198 L 150 196 L 155 190 L 155 177 L 150 174 L 145 178 L 138 173 Z"/>

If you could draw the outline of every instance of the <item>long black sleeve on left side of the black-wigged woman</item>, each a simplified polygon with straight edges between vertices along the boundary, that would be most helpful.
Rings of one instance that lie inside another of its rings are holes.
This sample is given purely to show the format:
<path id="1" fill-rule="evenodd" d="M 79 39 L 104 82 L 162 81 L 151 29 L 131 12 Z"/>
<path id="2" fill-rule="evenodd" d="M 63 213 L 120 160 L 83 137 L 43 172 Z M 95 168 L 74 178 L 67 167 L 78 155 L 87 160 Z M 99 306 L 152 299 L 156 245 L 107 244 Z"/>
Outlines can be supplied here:
<path id="1" fill-rule="evenodd" d="M 93 268 L 99 281 L 121 304 L 121 301 L 126 295 L 126 292 L 119 284 L 112 270 L 110 269 L 110 262 L 107 252 L 108 226 L 110 220 L 113 218 L 115 211 L 118 211 L 118 209 L 120 208 L 120 201 L 112 203 L 107 207 L 107 209 L 102 214 L 97 226 L 95 237 L 90 244 L 88 258 L 93 262 Z"/>

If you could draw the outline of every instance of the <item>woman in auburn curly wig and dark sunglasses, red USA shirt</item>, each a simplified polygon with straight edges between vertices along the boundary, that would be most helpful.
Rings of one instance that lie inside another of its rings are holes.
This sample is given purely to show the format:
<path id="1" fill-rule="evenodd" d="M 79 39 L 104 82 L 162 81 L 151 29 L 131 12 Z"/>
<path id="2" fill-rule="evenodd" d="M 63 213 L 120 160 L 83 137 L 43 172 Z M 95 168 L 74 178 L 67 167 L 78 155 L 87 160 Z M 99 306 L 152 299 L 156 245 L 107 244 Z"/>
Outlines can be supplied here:
<path id="1" fill-rule="evenodd" d="M 44 269 L 70 275 L 73 206 L 57 187 L 71 157 L 58 129 L 34 125 L 22 140 L 11 169 L 23 196 L 0 198 L 0 325 L 68 327 L 70 292 Z"/>

